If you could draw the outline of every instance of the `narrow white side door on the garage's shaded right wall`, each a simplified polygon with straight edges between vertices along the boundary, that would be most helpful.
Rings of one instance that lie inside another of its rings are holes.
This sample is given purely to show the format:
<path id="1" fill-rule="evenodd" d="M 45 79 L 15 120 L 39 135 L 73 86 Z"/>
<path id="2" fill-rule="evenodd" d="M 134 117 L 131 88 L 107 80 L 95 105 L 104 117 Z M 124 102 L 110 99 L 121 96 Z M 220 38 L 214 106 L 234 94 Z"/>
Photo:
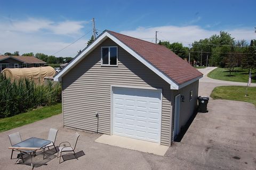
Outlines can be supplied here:
<path id="1" fill-rule="evenodd" d="M 173 141 L 174 137 L 179 134 L 179 119 L 180 119 L 180 97 L 178 94 L 174 99 L 174 126 L 173 126 Z"/>

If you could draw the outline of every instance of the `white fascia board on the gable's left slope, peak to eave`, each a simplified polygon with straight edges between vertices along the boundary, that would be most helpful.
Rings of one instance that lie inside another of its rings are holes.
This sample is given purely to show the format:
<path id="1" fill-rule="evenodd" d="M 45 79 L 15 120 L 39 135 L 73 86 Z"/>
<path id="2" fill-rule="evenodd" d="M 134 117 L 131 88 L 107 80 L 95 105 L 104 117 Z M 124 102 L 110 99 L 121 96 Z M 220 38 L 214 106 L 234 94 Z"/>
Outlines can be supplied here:
<path id="1" fill-rule="evenodd" d="M 82 59 L 84 59 L 83 56 L 85 56 L 85 54 L 91 52 L 95 46 L 97 46 L 97 44 L 99 44 L 102 39 L 105 39 L 106 37 L 106 32 L 103 33 L 100 37 L 98 37 L 89 47 L 87 47 L 82 53 L 80 53 L 78 56 L 76 56 L 76 58 L 71 61 L 71 63 L 68 63 L 67 66 L 65 66 L 60 72 L 59 74 L 57 74 L 55 77 L 54 77 L 54 81 L 60 81 L 61 80 L 61 77 L 64 76 L 65 74 L 67 74 L 67 72 L 72 69 L 73 67 L 76 66 L 76 64 L 81 61 Z"/>

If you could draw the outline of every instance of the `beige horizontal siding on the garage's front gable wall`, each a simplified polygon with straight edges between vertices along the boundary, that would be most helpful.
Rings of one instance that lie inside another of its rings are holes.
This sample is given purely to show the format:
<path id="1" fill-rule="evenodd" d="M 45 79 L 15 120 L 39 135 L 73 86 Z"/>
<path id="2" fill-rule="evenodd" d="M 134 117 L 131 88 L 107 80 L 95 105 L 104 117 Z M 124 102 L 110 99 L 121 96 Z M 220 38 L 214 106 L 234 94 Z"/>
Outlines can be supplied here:
<path id="1" fill-rule="evenodd" d="M 161 88 L 161 144 L 170 145 L 170 85 L 118 46 L 118 67 L 101 66 L 101 46 L 118 46 L 106 39 L 62 77 L 64 126 L 110 134 L 111 85 Z"/>

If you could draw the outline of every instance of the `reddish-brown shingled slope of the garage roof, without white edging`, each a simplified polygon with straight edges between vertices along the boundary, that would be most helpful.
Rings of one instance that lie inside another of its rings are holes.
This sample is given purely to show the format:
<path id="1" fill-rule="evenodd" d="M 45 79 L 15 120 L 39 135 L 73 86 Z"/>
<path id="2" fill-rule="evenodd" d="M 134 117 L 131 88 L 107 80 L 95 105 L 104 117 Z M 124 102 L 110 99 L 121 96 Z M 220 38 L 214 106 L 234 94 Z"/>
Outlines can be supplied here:
<path id="1" fill-rule="evenodd" d="M 115 33 L 114 31 L 107 32 L 130 47 L 179 85 L 202 76 L 201 72 L 162 45 Z"/>

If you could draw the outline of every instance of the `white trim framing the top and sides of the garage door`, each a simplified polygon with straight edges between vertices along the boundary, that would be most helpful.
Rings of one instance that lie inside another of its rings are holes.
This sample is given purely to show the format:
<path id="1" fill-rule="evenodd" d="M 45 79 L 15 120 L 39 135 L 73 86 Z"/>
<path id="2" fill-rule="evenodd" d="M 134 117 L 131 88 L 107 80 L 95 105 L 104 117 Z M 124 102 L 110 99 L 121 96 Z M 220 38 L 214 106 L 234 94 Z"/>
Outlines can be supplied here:
<path id="1" fill-rule="evenodd" d="M 113 116 L 114 116 L 114 109 L 113 109 L 113 92 L 115 87 L 122 87 L 122 88 L 139 88 L 139 89 L 145 89 L 145 90 L 158 90 L 161 94 L 161 115 L 160 115 L 160 123 L 159 123 L 159 129 L 160 129 L 160 135 L 159 135 L 159 144 L 161 144 L 161 135 L 162 135 L 162 105 L 163 105 L 163 93 L 162 93 L 162 88 L 154 88 L 154 87 L 138 87 L 138 86 L 125 86 L 125 85 L 111 85 L 110 86 L 110 135 L 113 135 Z M 138 139 L 139 140 L 139 139 Z"/>

